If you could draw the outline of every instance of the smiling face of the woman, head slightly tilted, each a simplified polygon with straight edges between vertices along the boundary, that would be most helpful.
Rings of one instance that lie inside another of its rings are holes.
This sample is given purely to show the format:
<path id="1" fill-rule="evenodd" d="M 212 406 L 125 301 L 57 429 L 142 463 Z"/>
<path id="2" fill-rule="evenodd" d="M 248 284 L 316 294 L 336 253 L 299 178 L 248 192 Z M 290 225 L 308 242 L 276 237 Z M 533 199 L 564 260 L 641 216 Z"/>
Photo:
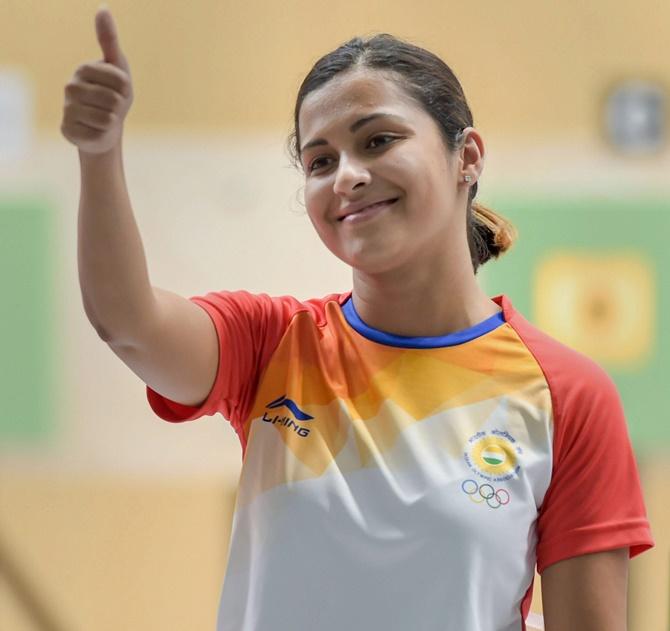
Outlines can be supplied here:
<path id="1" fill-rule="evenodd" d="M 467 249 L 462 160 L 450 159 L 435 121 L 382 73 L 349 71 L 310 93 L 299 130 L 307 213 L 342 261 L 383 273 Z M 385 200 L 396 201 L 341 218 Z"/>

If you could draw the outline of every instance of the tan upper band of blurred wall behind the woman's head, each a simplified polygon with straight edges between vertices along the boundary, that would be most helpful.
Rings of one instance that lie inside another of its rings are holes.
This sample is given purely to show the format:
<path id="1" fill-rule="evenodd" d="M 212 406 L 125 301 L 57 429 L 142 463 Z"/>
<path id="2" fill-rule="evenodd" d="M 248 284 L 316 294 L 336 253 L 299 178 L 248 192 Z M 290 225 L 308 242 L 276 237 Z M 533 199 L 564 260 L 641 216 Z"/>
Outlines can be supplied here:
<path id="1" fill-rule="evenodd" d="M 390 32 L 442 56 L 475 122 L 510 137 L 590 136 L 601 91 L 634 74 L 670 85 L 665 0 L 111 1 L 136 102 L 129 129 L 288 129 L 295 91 L 322 54 Z M 55 132 L 65 82 L 98 59 L 97 1 L 4 0 L 0 63 L 38 88 L 37 122 Z"/>

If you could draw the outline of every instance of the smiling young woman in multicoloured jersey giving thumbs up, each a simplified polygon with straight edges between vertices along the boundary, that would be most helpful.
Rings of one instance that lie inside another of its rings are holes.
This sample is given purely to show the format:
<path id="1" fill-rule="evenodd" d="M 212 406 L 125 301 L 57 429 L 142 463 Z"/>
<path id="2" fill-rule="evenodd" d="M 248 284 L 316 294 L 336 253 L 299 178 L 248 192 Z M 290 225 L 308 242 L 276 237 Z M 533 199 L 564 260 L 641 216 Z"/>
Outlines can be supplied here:
<path id="1" fill-rule="evenodd" d="M 452 71 L 378 35 L 300 88 L 290 146 L 351 291 L 186 300 L 148 280 L 129 68 L 108 12 L 97 27 L 62 126 L 84 306 L 161 418 L 219 412 L 239 436 L 219 630 L 517 631 L 536 567 L 549 631 L 625 629 L 628 559 L 653 541 L 621 401 L 479 287 L 514 230 L 473 201 L 485 147 Z"/>

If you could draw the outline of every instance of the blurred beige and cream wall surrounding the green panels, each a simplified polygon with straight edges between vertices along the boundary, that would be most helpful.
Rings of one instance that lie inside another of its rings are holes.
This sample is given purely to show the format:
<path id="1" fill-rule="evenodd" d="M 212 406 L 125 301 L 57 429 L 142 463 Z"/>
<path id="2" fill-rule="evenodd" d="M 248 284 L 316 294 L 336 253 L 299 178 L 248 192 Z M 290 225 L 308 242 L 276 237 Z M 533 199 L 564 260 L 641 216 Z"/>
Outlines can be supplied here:
<path id="1" fill-rule="evenodd" d="M 55 439 L 0 445 L 0 545 L 68 630 L 211 629 L 241 464 L 237 438 L 221 417 L 175 426 L 153 416 L 143 384 L 97 338 L 81 306 L 78 163 L 58 126 L 65 82 L 99 56 L 96 6 L 0 3 L 0 66 L 33 81 L 37 130 L 25 160 L 0 166 L 0 191 L 40 191 L 58 213 L 64 380 Z M 111 8 L 135 82 L 126 173 L 151 279 L 185 296 L 245 288 L 307 298 L 349 286 L 349 270 L 303 213 L 283 141 L 309 66 L 354 34 L 407 37 L 452 66 L 487 143 L 482 201 L 566 185 L 670 194 L 670 152 L 621 159 L 598 131 L 602 91 L 614 79 L 634 73 L 670 84 L 665 0 Z M 631 564 L 630 628 L 661 631 L 668 465 L 641 465 L 658 546 Z M 2 579 L 0 616 L 0 628 L 35 628 Z"/>

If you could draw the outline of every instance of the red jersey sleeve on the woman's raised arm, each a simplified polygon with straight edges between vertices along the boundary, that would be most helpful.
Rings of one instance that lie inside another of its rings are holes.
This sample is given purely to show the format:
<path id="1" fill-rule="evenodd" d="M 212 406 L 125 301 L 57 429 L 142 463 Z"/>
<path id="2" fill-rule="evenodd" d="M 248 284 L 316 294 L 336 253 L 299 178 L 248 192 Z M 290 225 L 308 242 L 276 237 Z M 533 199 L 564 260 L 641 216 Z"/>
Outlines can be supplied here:
<path id="1" fill-rule="evenodd" d="M 219 412 L 240 434 L 240 424 L 253 405 L 260 376 L 281 340 L 295 299 L 240 290 L 211 292 L 189 300 L 207 312 L 216 328 L 219 365 L 214 384 L 207 399 L 196 407 L 171 401 L 147 386 L 149 405 L 170 422 Z"/>

